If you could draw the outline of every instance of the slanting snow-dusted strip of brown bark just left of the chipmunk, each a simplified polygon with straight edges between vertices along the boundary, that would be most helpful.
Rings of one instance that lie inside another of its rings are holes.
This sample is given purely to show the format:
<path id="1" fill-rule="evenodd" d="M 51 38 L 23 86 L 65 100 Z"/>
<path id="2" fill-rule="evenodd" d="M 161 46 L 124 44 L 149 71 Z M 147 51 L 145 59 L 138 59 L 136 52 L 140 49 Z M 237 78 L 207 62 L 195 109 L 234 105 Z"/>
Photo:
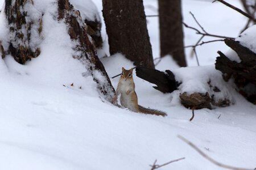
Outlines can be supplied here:
<path id="1" fill-rule="evenodd" d="M 87 69 L 92 71 L 94 81 L 98 84 L 98 89 L 102 94 L 106 96 L 106 100 L 112 101 L 115 90 L 106 73 L 104 65 L 102 65 L 100 59 L 97 56 L 95 46 L 92 44 L 88 37 L 86 24 L 82 24 L 80 12 L 75 10 L 68 0 L 58 0 L 59 6 L 59 20 L 64 19 L 68 26 L 68 33 L 72 40 L 78 41 L 76 46 L 78 53 L 74 58 L 79 59 L 84 65 L 87 65 Z M 89 65 L 88 65 L 89 63 Z M 97 72 L 101 73 L 101 76 L 96 75 Z"/>

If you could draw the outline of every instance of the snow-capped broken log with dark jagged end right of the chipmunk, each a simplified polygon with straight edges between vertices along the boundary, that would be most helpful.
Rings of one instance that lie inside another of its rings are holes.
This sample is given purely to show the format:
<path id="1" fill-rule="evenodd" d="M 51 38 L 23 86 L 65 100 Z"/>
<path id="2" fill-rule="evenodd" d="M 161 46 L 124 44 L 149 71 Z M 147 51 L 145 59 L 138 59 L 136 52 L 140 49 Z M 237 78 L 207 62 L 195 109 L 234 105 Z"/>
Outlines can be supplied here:
<path id="1" fill-rule="evenodd" d="M 177 90 L 180 103 L 190 109 L 212 109 L 226 107 L 232 103 L 232 96 L 224 85 L 221 73 L 212 66 L 183 67 L 165 72 L 137 67 L 139 78 L 156 84 L 154 87 L 163 93 Z"/>

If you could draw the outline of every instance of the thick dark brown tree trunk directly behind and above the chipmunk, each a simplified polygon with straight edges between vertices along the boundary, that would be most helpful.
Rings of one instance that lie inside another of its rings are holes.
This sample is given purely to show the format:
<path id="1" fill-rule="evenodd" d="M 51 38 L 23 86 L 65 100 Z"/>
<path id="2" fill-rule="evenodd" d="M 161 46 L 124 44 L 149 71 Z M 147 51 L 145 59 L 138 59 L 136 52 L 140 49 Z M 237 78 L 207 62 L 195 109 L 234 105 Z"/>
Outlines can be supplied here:
<path id="1" fill-rule="evenodd" d="M 102 2 L 110 54 L 122 53 L 136 66 L 154 68 L 143 1 Z"/>

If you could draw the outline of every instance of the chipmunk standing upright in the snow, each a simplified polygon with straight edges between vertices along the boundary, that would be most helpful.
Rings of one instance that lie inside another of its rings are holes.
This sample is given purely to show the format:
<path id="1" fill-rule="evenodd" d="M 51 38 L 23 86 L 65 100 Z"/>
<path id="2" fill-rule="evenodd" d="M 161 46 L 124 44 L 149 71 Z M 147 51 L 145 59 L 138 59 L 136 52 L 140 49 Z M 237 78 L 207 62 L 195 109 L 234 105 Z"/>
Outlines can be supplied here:
<path id="1" fill-rule="evenodd" d="M 135 84 L 133 80 L 133 69 L 125 70 L 122 67 L 122 74 L 118 82 L 117 91 L 112 100 L 113 104 L 117 104 L 117 97 L 119 94 L 121 94 L 121 105 L 123 107 L 129 108 L 133 112 L 155 114 L 163 117 L 167 116 L 165 112 L 144 108 L 141 105 L 138 105 L 138 97 L 135 92 Z"/>

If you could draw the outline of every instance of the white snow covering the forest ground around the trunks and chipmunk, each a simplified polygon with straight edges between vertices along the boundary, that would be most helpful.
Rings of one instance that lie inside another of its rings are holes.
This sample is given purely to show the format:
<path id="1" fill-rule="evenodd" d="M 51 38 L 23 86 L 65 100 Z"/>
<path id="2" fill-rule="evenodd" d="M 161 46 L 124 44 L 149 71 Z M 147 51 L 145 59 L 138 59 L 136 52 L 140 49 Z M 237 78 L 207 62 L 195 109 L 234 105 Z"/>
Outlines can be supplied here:
<path id="1" fill-rule="evenodd" d="M 185 160 L 161 169 L 221 169 L 177 135 L 189 139 L 219 162 L 256 167 L 256 107 L 237 94 L 230 87 L 232 83 L 221 81 L 221 74 L 213 65 L 177 69 L 172 59 L 164 58 L 156 69 L 174 69 L 179 79 L 185 77 L 187 86 L 183 90 L 204 90 L 199 88 L 202 84 L 196 83 L 212 75 L 215 83 L 230 95 L 230 107 L 195 111 L 194 120 L 189 122 L 191 110 L 179 102 L 182 90 L 162 94 L 135 75 L 139 104 L 165 111 L 168 116 L 114 107 L 100 97 L 90 76 L 82 76 L 86 69 L 72 58 L 72 42 L 64 24 L 56 23 L 50 15 L 54 9 L 46 6 L 51 1 L 42 3 L 47 12 L 40 56 L 26 65 L 19 65 L 11 56 L 0 58 L 0 169 L 150 169 L 155 159 L 162 164 L 181 157 Z M 100 11 L 101 1 L 94 2 Z M 238 1 L 232 2 L 240 5 Z M 156 14 L 154 8 L 147 7 L 156 6 L 156 0 L 144 3 L 147 14 Z M 210 33 L 236 37 L 246 22 L 236 12 L 209 1 L 184 0 L 183 5 L 185 22 L 195 24 L 188 14 L 192 11 Z M 148 26 L 156 58 L 157 19 L 148 19 Z M 198 39 L 187 29 L 185 36 L 186 45 Z M 227 49 L 224 43 L 201 46 L 200 63 L 213 64 L 216 51 Z M 195 58 L 188 56 L 188 60 L 189 65 L 196 65 Z M 102 62 L 109 76 L 120 73 L 122 66 L 133 67 L 120 54 L 102 58 Z M 112 79 L 112 83 L 117 87 L 118 78 Z"/>

